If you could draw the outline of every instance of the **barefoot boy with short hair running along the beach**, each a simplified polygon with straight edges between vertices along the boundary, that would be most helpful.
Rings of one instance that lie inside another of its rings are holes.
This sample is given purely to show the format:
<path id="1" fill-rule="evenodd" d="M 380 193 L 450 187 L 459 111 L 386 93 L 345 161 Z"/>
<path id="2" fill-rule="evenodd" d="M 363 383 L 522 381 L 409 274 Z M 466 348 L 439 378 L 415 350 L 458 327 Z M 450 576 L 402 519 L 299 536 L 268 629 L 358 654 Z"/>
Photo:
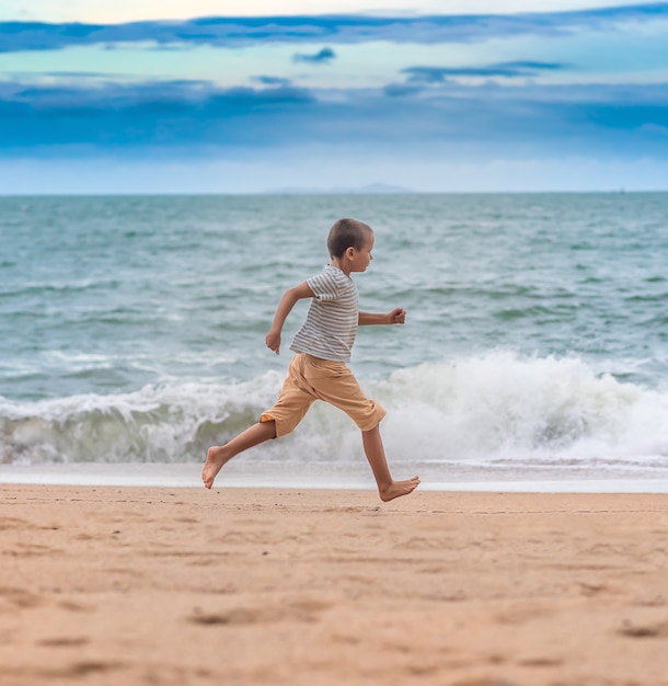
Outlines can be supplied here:
<path id="1" fill-rule="evenodd" d="M 201 471 L 207 489 L 214 485 L 222 466 L 235 455 L 290 433 L 315 400 L 339 408 L 361 430 L 365 455 L 382 501 L 406 495 L 417 488 L 417 477 L 405 481 L 392 479 L 379 430 L 385 411 L 364 395 L 346 364 L 358 325 L 403 324 L 406 313 L 401 308 L 387 315 L 358 309 L 357 287 L 350 274 L 365 272 L 372 260 L 371 227 L 356 219 L 339 219 L 330 230 L 327 249 L 331 263 L 318 276 L 285 291 L 266 335 L 267 347 L 278 355 L 285 320 L 298 300 L 312 298 L 307 320 L 290 346 L 296 355 L 276 404 L 262 414 L 260 422 L 229 443 L 209 448 Z"/>

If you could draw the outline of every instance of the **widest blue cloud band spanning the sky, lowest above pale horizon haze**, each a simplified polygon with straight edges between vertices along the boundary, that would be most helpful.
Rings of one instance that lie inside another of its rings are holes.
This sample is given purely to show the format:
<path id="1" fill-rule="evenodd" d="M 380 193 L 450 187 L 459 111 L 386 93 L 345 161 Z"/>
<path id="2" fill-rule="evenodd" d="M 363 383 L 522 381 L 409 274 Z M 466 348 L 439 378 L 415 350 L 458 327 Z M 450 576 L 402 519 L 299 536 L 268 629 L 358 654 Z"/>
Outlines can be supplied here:
<path id="1" fill-rule="evenodd" d="M 419 147 L 465 149 L 468 156 L 668 155 L 663 84 L 403 88 L 349 90 L 327 100 L 285 84 L 2 83 L 0 157 L 141 157 L 160 150 L 178 158 L 290 145 L 364 146 L 398 155 Z M 388 94 L 403 96 L 388 107 Z"/>

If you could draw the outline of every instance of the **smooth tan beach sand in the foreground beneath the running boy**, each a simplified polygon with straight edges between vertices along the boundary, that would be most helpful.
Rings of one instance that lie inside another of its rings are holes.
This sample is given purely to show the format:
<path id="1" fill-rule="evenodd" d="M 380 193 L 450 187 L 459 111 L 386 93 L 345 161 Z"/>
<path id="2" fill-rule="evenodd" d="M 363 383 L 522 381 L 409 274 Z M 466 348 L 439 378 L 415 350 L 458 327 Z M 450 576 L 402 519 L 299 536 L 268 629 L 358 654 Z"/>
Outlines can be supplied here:
<path id="1" fill-rule="evenodd" d="M 668 499 L 0 485 L 0 684 L 668 684 Z"/>

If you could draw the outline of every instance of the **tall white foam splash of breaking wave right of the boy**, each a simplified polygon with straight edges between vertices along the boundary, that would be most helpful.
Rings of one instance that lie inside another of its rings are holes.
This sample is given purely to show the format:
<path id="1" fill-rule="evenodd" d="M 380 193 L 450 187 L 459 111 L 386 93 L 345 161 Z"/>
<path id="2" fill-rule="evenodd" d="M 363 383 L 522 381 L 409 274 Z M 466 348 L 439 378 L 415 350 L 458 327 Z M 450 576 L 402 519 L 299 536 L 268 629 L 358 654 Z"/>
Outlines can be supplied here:
<path id="1" fill-rule="evenodd" d="M 385 435 L 427 461 L 663 465 L 668 395 L 597 375 L 578 358 L 509 353 L 423 365 L 379 388 Z"/>

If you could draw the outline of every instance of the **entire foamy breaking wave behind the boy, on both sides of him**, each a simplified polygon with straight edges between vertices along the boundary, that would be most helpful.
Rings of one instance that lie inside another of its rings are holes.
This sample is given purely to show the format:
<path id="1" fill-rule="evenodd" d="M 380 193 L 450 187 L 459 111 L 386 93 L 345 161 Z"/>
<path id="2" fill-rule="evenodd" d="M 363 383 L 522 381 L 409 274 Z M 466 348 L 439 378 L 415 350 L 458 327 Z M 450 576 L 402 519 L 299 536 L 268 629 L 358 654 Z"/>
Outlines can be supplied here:
<path id="1" fill-rule="evenodd" d="M 283 376 L 247 382 L 147 386 L 18 403 L 0 399 L 0 460 L 189 462 L 256 421 Z M 668 456 L 668 393 L 597 374 L 576 357 L 494 353 L 401 369 L 365 381 L 388 410 L 393 464 L 660 468 Z M 316 403 L 290 436 L 262 448 L 290 462 L 358 460 L 355 425 Z"/>

